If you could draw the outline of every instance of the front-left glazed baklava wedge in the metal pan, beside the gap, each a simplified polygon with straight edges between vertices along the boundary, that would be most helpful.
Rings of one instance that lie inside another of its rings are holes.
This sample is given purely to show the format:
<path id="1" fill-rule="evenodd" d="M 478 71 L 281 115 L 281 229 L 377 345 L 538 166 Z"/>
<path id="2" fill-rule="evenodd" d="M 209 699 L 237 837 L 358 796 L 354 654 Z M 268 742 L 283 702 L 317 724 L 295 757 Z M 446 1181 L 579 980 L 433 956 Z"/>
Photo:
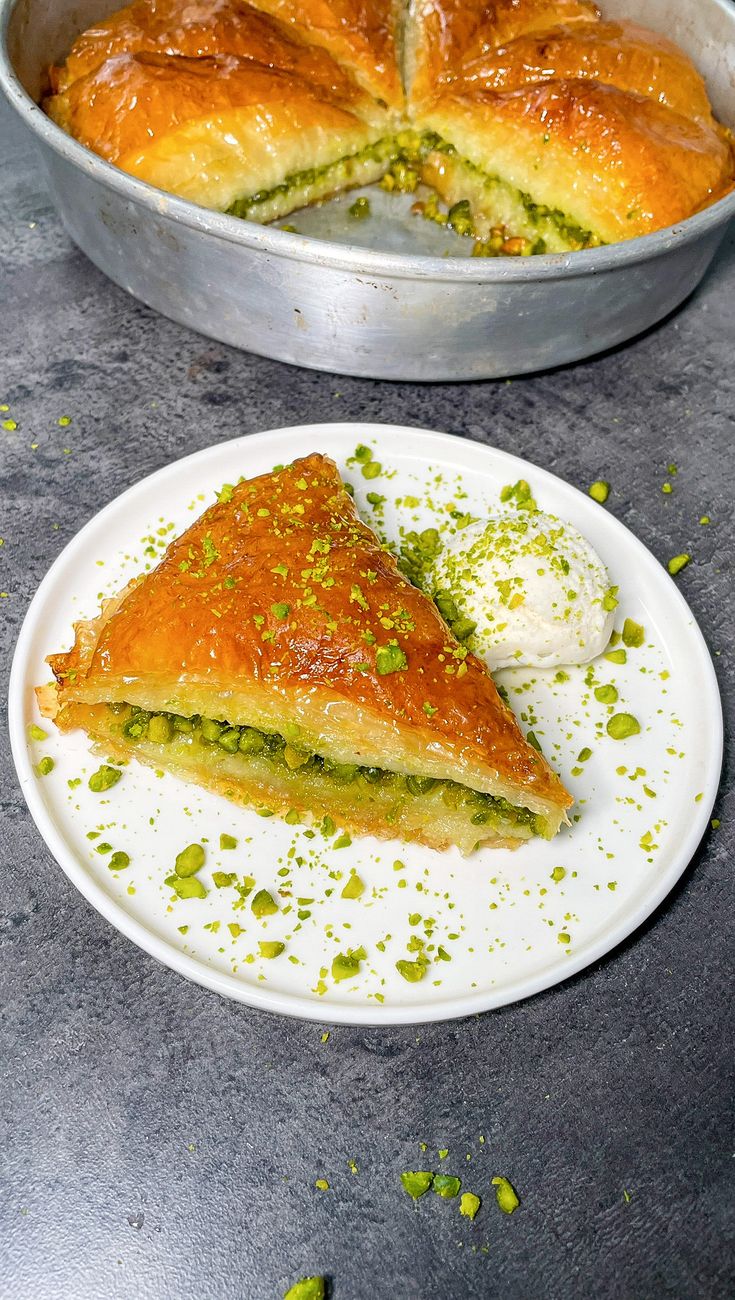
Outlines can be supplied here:
<path id="1" fill-rule="evenodd" d="M 264 60 L 117 53 L 44 101 L 82 144 L 202 207 L 273 221 L 379 179 L 393 120 L 324 51 L 281 43 Z"/>

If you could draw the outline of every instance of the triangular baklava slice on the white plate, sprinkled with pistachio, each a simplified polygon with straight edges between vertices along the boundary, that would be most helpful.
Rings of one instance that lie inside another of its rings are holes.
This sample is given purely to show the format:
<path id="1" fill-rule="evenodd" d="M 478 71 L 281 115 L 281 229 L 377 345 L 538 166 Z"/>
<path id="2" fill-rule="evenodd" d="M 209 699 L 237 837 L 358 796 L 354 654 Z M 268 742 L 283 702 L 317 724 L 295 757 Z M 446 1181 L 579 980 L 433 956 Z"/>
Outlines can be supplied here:
<path id="1" fill-rule="evenodd" d="M 264 812 L 471 853 L 572 802 L 321 455 L 225 488 L 48 662 L 61 731 Z"/>

